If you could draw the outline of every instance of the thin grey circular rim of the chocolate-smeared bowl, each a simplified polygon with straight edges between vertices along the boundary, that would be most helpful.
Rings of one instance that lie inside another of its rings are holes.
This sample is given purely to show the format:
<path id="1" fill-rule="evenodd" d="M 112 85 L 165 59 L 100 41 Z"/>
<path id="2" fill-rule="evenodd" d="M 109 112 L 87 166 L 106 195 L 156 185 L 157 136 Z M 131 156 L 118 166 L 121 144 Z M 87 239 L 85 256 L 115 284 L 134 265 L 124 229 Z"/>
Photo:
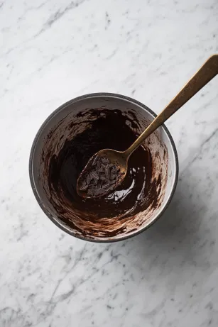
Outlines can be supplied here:
<path id="1" fill-rule="evenodd" d="M 173 148 L 173 153 L 174 153 L 174 157 L 175 157 L 175 179 L 173 182 L 173 187 L 170 190 L 170 196 L 168 198 L 168 201 L 166 201 L 165 205 L 163 206 L 163 209 L 159 212 L 159 214 L 156 216 L 156 218 L 153 219 L 153 221 L 151 221 L 151 223 L 148 223 L 147 226 L 145 226 L 144 228 L 140 229 L 140 230 L 136 230 L 133 233 L 131 233 L 131 235 L 124 235 L 121 236 L 120 238 L 104 238 L 104 239 L 95 239 L 95 238 L 87 238 L 86 236 L 82 236 L 82 235 L 76 235 L 74 232 L 68 230 L 67 228 L 65 228 L 64 225 L 62 225 L 61 223 L 59 223 L 58 221 L 55 220 L 55 218 L 53 217 L 52 214 L 50 214 L 50 212 L 45 208 L 45 206 L 43 205 L 43 201 L 41 201 L 40 196 L 38 195 L 38 192 L 36 191 L 36 187 L 35 187 L 35 183 L 34 183 L 34 177 L 33 177 L 33 156 L 34 156 L 34 151 L 36 148 L 36 145 L 38 143 L 38 138 L 40 136 L 40 133 L 43 131 L 43 128 L 45 128 L 45 126 L 47 125 L 47 123 L 53 118 L 53 116 L 55 116 L 56 113 L 58 113 L 59 111 L 61 111 L 62 109 L 65 109 L 65 107 L 69 106 L 70 104 L 73 104 L 77 101 L 80 100 L 84 100 L 87 98 L 92 98 L 92 97 L 102 97 L 102 96 L 109 96 L 109 97 L 113 97 L 113 98 L 119 98 L 122 100 L 127 100 L 127 101 L 131 101 L 133 102 L 133 104 L 136 104 L 138 106 L 141 106 L 144 110 L 148 111 L 149 113 L 151 113 L 151 115 L 155 118 L 157 116 L 156 113 L 154 113 L 150 108 L 148 108 L 145 104 L 142 104 L 141 102 L 132 99 L 129 96 L 124 96 L 122 94 L 116 94 L 116 93 L 107 93 L 107 92 L 98 92 L 98 93 L 90 93 L 90 94 L 84 94 L 82 96 L 77 96 L 74 99 L 71 99 L 70 101 L 65 102 L 65 104 L 62 104 L 61 106 L 58 107 L 58 109 L 55 109 L 52 113 L 50 113 L 50 115 L 48 116 L 48 118 L 45 119 L 45 121 L 42 123 L 42 125 L 40 126 L 40 128 L 38 129 L 38 132 L 36 133 L 35 138 L 33 139 L 33 144 L 31 146 L 31 153 L 30 153 L 30 157 L 29 157 L 29 178 L 30 178 L 30 182 L 31 182 L 31 188 L 33 190 L 33 194 L 36 197 L 36 201 L 38 201 L 38 204 L 40 206 L 40 208 L 43 210 L 44 214 L 46 216 L 48 216 L 48 218 L 50 218 L 50 220 L 55 223 L 56 226 L 58 226 L 58 228 L 60 228 L 62 231 L 65 231 L 65 233 L 74 236 L 75 238 L 79 238 L 80 240 L 86 240 L 92 243 L 114 243 L 114 242 L 119 242 L 121 240 L 126 240 L 128 238 L 132 238 L 133 236 L 136 236 L 140 233 L 143 233 L 143 231 L 146 231 L 146 229 L 148 229 L 149 227 L 151 227 L 153 225 L 153 223 L 155 223 L 160 216 L 163 215 L 165 209 L 168 208 L 170 201 L 173 199 L 173 195 L 175 193 L 175 189 L 176 186 L 178 184 L 178 173 L 179 173 L 179 163 L 178 163 L 178 153 L 177 150 L 175 148 L 175 143 L 173 140 L 172 135 L 170 134 L 170 132 L 168 131 L 168 128 L 165 126 L 165 124 L 162 125 L 163 129 L 165 130 L 165 133 L 168 135 L 168 138 L 170 140 L 170 143 L 172 145 Z"/>

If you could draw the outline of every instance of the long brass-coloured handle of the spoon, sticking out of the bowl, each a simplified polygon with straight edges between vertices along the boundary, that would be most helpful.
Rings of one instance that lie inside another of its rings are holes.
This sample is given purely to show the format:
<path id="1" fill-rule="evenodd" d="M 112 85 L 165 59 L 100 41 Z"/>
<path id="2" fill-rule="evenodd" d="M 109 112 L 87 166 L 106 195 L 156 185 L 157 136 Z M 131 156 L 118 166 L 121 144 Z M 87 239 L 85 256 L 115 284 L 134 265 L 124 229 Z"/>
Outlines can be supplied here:
<path id="1" fill-rule="evenodd" d="M 153 120 L 137 140 L 124 152 L 126 157 L 129 157 L 141 143 L 148 138 L 151 133 L 156 131 L 160 125 L 170 118 L 183 104 L 192 98 L 202 87 L 204 87 L 214 76 L 218 74 L 218 55 L 212 55 L 202 65 L 195 75 L 185 84 L 180 92 L 175 96 L 170 103 L 165 106 L 165 109 Z"/>

